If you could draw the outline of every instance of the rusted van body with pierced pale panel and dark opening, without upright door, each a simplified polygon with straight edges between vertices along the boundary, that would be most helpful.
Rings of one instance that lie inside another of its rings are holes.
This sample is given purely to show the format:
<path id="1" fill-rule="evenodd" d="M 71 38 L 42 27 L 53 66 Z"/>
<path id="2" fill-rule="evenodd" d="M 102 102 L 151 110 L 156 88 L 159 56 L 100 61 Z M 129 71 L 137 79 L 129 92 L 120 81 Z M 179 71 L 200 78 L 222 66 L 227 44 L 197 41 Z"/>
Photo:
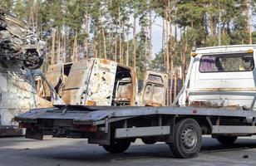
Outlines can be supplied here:
<path id="1" fill-rule="evenodd" d="M 135 105 L 135 71 L 115 61 L 76 61 L 63 89 L 69 105 Z"/>

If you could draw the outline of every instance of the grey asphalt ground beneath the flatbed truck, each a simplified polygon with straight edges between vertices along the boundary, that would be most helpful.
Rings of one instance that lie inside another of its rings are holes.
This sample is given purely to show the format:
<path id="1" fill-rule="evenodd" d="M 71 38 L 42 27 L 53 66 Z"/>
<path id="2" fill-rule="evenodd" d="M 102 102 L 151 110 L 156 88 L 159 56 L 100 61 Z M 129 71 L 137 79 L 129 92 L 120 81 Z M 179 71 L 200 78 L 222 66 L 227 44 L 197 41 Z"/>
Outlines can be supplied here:
<path id="1" fill-rule="evenodd" d="M 44 140 L 0 139 L 0 166 L 72 166 L 72 165 L 256 165 L 256 136 L 240 138 L 233 146 L 224 146 L 206 137 L 199 156 L 175 159 L 167 144 L 143 144 L 138 139 L 124 154 L 108 154 L 86 139 Z"/>

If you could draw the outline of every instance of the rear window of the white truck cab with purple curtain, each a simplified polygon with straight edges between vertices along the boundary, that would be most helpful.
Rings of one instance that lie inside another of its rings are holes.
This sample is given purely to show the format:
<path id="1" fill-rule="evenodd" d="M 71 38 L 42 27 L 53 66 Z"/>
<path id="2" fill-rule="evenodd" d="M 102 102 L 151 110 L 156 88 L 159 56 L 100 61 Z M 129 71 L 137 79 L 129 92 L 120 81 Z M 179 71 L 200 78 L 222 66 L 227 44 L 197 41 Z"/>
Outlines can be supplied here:
<path id="1" fill-rule="evenodd" d="M 253 70 L 254 56 L 249 53 L 202 56 L 199 64 L 199 71 L 203 73 Z"/>

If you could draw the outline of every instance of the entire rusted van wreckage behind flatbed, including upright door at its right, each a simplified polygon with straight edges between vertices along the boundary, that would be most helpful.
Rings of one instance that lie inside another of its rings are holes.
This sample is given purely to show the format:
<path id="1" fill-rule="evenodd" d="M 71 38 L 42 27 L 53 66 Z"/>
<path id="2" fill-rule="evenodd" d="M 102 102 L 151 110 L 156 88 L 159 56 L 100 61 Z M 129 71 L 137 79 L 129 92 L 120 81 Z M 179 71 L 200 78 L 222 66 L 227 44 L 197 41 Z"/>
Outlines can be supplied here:
<path id="1" fill-rule="evenodd" d="M 106 59 L 90 58 L 50 66 L 47 80 L 66 105 L 166 105 L 165 73 L 147 71 L 145 88 L 139 94 L 135 70 Z"/>

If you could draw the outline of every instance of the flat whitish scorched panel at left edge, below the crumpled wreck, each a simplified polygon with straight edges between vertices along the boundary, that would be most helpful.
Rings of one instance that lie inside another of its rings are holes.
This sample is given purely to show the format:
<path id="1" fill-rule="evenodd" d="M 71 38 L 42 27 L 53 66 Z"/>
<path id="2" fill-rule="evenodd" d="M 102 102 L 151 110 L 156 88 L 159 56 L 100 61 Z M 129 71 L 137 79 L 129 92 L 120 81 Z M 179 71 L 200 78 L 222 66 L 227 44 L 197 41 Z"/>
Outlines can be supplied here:
<path id="1" fill-rule="evenodd" d="M 1 125 L 17 125 L 12 118 L 37 106 L 32 72 L 0 61 Z"/>

